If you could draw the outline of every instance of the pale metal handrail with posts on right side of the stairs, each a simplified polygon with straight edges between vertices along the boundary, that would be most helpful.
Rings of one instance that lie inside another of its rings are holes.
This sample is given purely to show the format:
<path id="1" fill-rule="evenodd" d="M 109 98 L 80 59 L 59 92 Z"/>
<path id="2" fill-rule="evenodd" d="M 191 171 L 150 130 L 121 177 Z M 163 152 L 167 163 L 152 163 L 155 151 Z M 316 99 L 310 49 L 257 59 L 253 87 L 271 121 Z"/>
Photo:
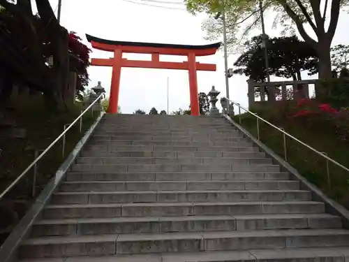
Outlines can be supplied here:
<path id="1" fill-rule="evenodd" d="M 226 98 L 225 98 L 226 99 Z M 315 148 L 311 147 L 310 145 L 302 142 L 301 140 L 299 140 L 298 138 L 295 138 L 294 136 L 290 135 L 290 133 L 287 133 L 283 128 L 280 128 L 278 126 L 275 126 L 274 124 L 268 122 L 267 120 L 265 120 L 264 118 L 260 117 L 259 115 L 255 114 L 254 112 L 251 112 L 250 110 L 244 108 L 242 105 L 240 105 L 239 103 L 235 103 L 234 101 L 231 101 L 230 99 L 226 99 L 227 101 L 229 101 L 230 103 L 232 103 L 233 105 L 237 105 L 237 107 L 239 107 L 239 114 L 241 114 L 241 109 L 248 112 L 249 114 L 253 115 L 254 117 L 256 117 L 257 119 L 257 136 L 258 136 L 258 140 L 260 140 L 260 126 L 259 126 L 259 120 L 261 120 L 262 122 L 265 122 L 266 124 L 268 124 L 269 126 L 274 127 L 274 129 L 280 131 L 281 133 L 283 133 L 283 150 L 284 150 L 284 154 L 285 154 L 285 160 L 287 161 L 287 149 L 286 149 L 286 136 L 288 136 L 289 138 L 291 138 L 292 140 L 297 141 L 298 143 L 300 143 L 301 145 L 304 145 L 304 147 L 307 147 L 309 150 L 315 152 L 316 154 L 320 155 L 321 157 L 325 158 L 327 160 L 327 179 L 328 179 L 328 184 L 329 184 L 329 188 L 331 188 L 331 180 L 329 177 L 329 161 L 334 163 L 334 165 L 339 166 L 340 168 L 343 168 L 344 170 L 349 172 L 349 168 L 347 168 L 346 166 L 343 166 L 341 163 L 338 163 L 337 161 L 335 161 L 334 159 L 328 157 L 326 152 L 320 152 L 318 150 L 315 150 Z M 239 121 L 240 122 L 240 121 Z"/>

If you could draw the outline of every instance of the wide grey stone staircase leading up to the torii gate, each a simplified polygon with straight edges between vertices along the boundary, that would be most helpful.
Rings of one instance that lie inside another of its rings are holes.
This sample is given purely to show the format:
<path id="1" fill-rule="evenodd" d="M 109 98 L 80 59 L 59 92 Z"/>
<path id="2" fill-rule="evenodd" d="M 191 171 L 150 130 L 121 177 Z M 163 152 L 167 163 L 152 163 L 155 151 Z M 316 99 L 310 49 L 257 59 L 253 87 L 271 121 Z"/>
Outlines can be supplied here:
<path id="1" fill-rule="evenodd" d="M 106 115 L 22 261 L 349 261 L 349 231 L 224 119 Z"/>

